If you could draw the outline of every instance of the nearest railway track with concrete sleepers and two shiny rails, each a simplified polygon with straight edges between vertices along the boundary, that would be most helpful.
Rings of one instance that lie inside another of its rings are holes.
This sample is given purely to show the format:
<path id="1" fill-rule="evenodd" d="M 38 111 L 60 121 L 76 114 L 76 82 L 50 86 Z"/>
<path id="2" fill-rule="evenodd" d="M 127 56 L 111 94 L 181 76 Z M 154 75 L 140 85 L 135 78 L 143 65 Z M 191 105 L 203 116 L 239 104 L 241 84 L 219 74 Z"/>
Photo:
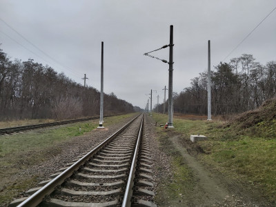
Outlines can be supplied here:
<path id="1" fill-rule="evenodd" d="M 9 206 L 156 206 L 144 115 Z"/>

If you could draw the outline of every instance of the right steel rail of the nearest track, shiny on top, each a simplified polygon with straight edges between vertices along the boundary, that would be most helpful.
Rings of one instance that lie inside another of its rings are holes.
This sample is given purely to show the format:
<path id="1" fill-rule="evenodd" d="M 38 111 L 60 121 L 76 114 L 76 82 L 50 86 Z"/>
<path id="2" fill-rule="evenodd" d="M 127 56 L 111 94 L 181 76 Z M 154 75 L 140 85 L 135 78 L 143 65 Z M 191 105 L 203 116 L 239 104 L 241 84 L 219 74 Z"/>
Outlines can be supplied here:
<path id="1" fill-rule="evenodd" d="M 121 205 L 122 207 L 131 206 L 131 198 L 132 198 L 132 193 L 133 193 L 132 187 L 134 186 L 135 171 L 136 171 L 136 166 L 137 166 L 137 157 L 138 157 L 138 152 L 139 152 L 139 146 L 140 146 L 140 141 L 141 141 L 143 125 L 144 125 L 144 115 L 141 120 L 141 125 L 140 125 L 140 129 L 139 129 L 139 135 L 137 138 L 136 148 L 135 148 L 135 152 L 134 152 L 134 155 L 132 158 L 132 164 L 130 167 L 128 183 L 126 184 L 126 191 L 124 194 L 123 204 Z"/>

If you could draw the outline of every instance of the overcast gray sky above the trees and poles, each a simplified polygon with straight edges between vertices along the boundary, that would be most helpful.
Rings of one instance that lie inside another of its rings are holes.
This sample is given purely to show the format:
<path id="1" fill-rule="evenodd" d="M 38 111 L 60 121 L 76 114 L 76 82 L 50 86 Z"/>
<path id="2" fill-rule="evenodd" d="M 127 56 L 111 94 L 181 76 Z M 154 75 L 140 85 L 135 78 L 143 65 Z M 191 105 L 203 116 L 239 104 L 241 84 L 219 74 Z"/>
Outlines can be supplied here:
<path id="1" fill-rule="evenodd" d="M 173 91 L 179 93 L 206 71 L 209 39 L 213 70 L 275 7 L 275 0 L 0 0 L 0 18 L 55 61 L 1 19 L 0 48 L 11 59 L 32 58 L 77 83 L 86 73 L 88 86 L 99 90 L 103 41 L 104 92 L 145 108 L 150 89 L 157 90 L 153 105 L 157 95 L 163 101 L 168 64 L 144 53 L 169 43 L 170 25 Z M 276 10 L 224 61 L 244 53 L 262 64 L 276 61 Z M 166 60 L 168 54 L 168 48 L 152 53 Z"/>

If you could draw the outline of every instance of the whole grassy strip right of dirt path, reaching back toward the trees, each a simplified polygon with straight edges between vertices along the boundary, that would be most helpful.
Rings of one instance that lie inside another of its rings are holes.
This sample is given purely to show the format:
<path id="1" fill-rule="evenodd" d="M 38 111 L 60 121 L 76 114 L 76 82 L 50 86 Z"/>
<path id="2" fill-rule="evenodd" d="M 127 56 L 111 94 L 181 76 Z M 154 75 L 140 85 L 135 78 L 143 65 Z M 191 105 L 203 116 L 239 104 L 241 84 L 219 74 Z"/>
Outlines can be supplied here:
<path id="1" fill-rule="evenodd" d="M 153 114 L 159 124 L 168 121 L 168 115 Z M 175 128 L 169 129 L 181 134 L 184 139 L 190 135 L 206 135 L 207 141 L 199 142 L 204 150 L 199 159 L 224 175 L 248 181 L 261 189 L 270 201 L 276 201 L 276 121 L 259 122 L 244 131 L 235 125 L 225 127 L 220 121 L 193 121 L 174 119 Z M 269 135 L 269 136 L 267 136 Z"/>

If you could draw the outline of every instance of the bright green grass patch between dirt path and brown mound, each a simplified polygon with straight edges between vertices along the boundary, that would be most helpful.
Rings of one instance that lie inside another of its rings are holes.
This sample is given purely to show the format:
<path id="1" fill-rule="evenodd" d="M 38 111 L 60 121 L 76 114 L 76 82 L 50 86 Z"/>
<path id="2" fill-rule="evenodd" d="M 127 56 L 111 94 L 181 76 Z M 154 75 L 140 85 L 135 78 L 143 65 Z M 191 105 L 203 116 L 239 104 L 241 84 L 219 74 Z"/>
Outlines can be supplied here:
<path id="1" fill-rule="evenodd" d="M 211 146 L 211 147 L 210 147 Z M 260 186 L 272 201 L 276 193 L 276 141 L 262 137 L 241 136 L 236 140 L 201 143 L 209 155 L 202 155 L 208 164 L 216 164 L 230 176 L 246 179 Z"/>

